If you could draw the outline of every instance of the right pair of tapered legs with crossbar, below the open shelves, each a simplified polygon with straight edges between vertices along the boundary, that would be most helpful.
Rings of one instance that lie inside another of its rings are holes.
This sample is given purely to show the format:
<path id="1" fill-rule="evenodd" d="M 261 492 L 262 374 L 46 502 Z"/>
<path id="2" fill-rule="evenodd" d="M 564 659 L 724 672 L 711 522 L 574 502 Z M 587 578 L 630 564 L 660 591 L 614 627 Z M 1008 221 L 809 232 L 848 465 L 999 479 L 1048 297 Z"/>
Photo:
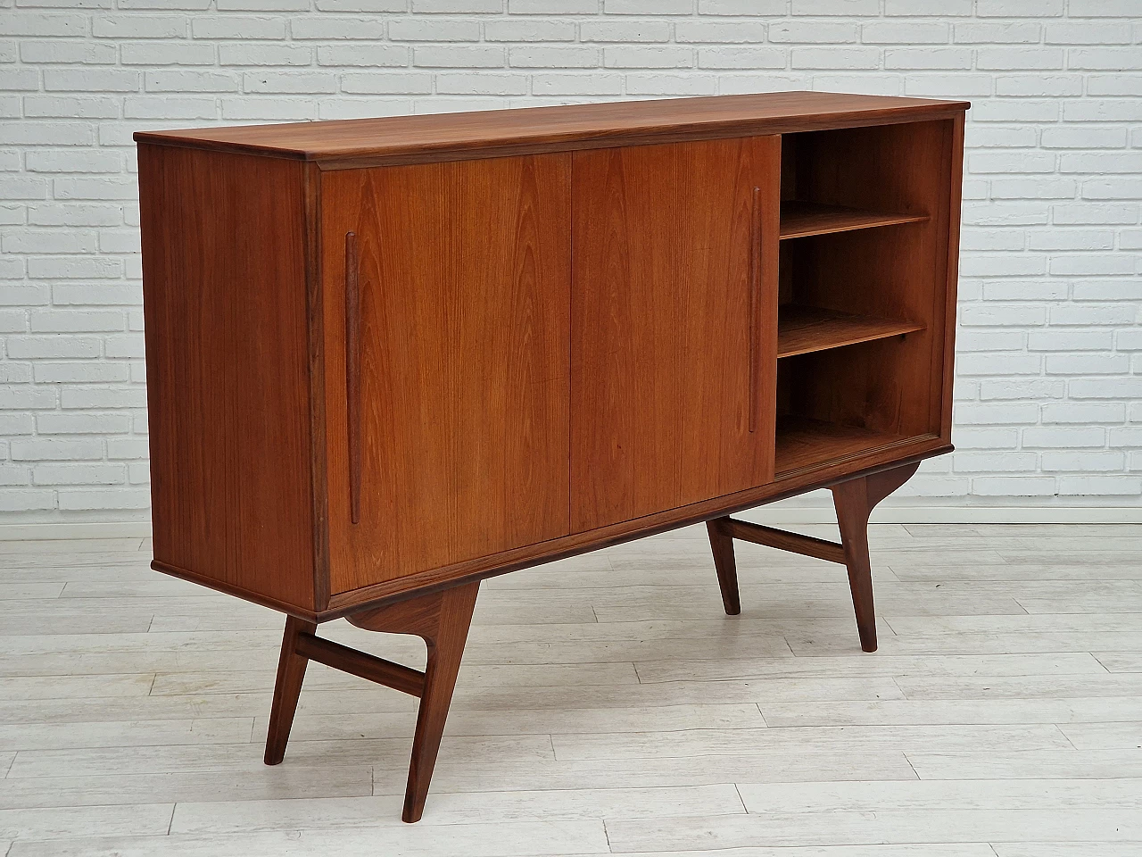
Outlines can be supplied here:
<path id="1" fill-rule="evenodd" d="M 868 558 L 868 516 L 876 504 L 907 482 L 919 466 L 902 467 L 850 479 L 833 486 L 833 503 L 841 527 L 841 543 L 802 536 L 797 532 L 763 527 L 759 523 L 717 518 L 706 522 L 714 553 L 714 567 L 722 586 L 722 603 L 730 616 L 741 612 L 738 595 L 738 567 L 733 559 L 733 539 L 778 547 L 819 560 L 838 562 L 849 569 L 849 587 L 856 611 L 856 632 L 864 651 L 876 651 L 876 612 L 872 607 L 872 570 Z"/>

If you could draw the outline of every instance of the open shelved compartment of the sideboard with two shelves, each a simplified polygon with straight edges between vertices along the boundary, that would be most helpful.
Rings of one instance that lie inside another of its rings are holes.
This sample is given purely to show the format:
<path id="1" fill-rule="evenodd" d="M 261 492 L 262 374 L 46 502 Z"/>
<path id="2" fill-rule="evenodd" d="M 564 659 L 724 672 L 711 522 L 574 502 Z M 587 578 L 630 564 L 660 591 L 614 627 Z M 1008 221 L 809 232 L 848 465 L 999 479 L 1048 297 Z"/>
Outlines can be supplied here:
<path id="1" fill-rule="evenodd" d="M 939 434 L 951 131 L 782 136 L 779 479 Z"/>

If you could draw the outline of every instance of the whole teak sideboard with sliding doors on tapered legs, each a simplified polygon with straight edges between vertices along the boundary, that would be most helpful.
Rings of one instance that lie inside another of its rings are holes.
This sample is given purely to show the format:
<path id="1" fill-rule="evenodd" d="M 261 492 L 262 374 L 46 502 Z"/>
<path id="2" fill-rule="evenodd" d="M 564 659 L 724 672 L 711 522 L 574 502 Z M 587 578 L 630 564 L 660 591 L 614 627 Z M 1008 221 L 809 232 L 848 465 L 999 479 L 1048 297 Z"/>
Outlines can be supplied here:
<path id="1" fill-rule="evenodd" d="M 135 135 L 153 567 L 420 698 L 424 810 L 480 579 L 705 521 L 846 566 L 951 450 L 963 102 L 828 93 Z M 831 488 L 839 543 L 731 513 Z M 316 634 L 423 636 L 424 672 Z"/>

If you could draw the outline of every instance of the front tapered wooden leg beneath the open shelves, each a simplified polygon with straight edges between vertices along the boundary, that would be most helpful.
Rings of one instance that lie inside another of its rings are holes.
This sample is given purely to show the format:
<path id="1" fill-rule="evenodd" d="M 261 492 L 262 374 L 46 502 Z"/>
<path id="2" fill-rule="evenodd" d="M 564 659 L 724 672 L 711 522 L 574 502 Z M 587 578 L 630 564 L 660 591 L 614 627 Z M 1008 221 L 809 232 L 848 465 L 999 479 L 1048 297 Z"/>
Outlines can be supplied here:
<path id="1" fill-rule="evenodd" d="M 876 651 L 876 609 L 872 603 L 872 568 L 868 556 L 868 518 L 876 504 L 900 488 L 916 472 L 918 464 L 851 479 L 833 486 L 841 544 L 849 587 L 856 612 L 856 632 L 864 651 Z"/>

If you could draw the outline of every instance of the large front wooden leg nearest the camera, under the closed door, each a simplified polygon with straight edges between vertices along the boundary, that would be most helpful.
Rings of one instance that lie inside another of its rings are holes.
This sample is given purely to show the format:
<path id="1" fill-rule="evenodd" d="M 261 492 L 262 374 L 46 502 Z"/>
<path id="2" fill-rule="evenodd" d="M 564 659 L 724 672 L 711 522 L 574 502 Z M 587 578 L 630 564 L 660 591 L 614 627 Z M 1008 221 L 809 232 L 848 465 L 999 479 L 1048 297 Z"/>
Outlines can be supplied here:
<path id="1" fill-rule="evenodd" d="M 472 583 L 347 617 L 354 625 L 370 631 L 417 634 L 428 646 L 401 816 L 405 822 L 418 822 L 424 812 L 478 591 L 480 584 Z"/>

